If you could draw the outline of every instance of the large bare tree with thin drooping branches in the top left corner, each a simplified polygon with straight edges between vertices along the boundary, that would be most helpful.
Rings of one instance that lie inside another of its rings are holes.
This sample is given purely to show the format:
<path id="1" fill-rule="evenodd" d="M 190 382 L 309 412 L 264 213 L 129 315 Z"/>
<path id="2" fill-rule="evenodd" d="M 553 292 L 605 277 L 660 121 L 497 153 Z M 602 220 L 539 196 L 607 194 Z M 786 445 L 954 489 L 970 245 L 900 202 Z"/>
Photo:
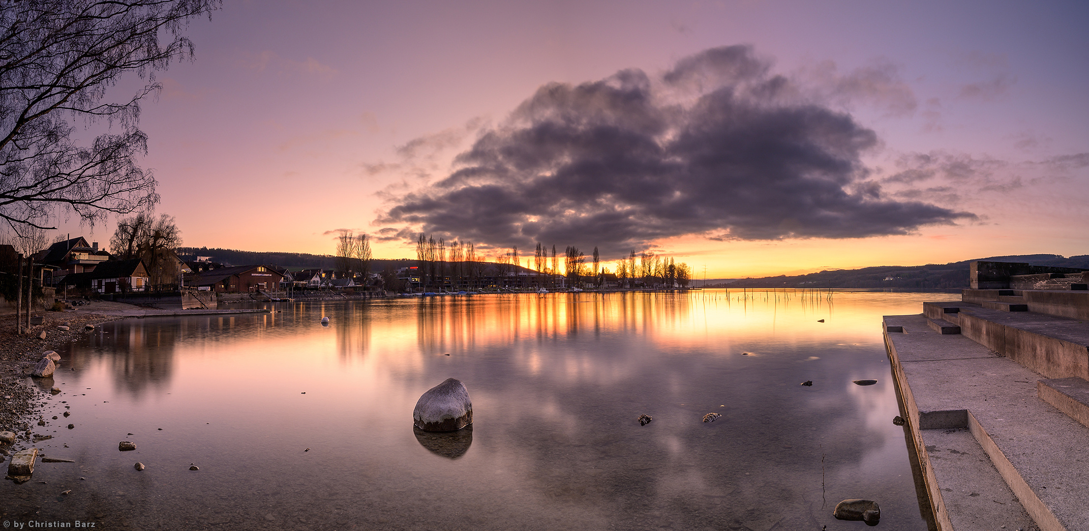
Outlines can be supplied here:
<path id="1" fill-rule="evenodd" d="M 161 88 L 156 71 L 192 58 L 193 44 L 181 35 L 187 21 L 219 3 L 0 2 L 0 219 L 13 229 L 49 229 L 61 211 L 94 224 L 155 205 L 155 176 L 136 161 L 147 152 L 139 103 Z M 103 101 L 126 72 L 147 85 L 127 101 Z M 112 133 L 81 146 L 69 119 L 106 119 Z"/>

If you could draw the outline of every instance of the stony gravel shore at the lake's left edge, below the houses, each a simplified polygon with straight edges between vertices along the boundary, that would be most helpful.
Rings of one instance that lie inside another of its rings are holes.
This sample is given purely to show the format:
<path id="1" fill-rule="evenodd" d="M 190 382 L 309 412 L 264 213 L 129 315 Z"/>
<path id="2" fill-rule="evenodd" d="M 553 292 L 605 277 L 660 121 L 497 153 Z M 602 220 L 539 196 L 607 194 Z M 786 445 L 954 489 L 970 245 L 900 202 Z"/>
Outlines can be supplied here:
<path id="1" fill-rule="evenodd" d="M 0 317 L 0 431 L 15 432 L 24 440 L 30 437 L 44 402 L 41 393 L 25 383 L 34 365 L 46 350 L 58 350 L 60 345 L 86 334 L 87 324 L 122 319 L 95 313 L 96 309 L 120 307 L 133 308 L 120 302 L 93 302 L 75 311 L 40 312 L 37 314 L 42 317 L 42 324 L 32 325 L 30 333 L 23 335 L 15 333 L 15 316 Z M 61 324 L 68 324 L 70 330 L 61 331 L 58 329 Z M 42 331 L 46 332 L 45 339 L 38 337 Z M 61 360 L 60 367 L 64 367 L 64 360 Z"/>

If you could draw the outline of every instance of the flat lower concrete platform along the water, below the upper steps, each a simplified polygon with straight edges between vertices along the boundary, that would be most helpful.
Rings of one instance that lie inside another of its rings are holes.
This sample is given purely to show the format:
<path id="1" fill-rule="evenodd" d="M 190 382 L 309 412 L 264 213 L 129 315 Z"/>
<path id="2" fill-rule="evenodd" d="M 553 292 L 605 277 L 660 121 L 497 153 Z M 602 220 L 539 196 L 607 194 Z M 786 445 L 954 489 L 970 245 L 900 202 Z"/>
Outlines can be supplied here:
<path id="1" fill-rule="evenodd" d="M 965 335 L 931 330 L 923 314 L 886 316 L 884 325 L 940 529 L 1031 529 L 1011 506 L 1015 497 L 1043 531 L 1089 530 L 1089 427 L 1037 396 L 1040 375 Z M 896 326 L 904 332 L 888 332 Z M 965 433 L 986 462 L 943 449 L 972 455 Z M 966 490 L 979 494 L 970 498 L 986 491 L 991 505 L 964 499 Z"/>

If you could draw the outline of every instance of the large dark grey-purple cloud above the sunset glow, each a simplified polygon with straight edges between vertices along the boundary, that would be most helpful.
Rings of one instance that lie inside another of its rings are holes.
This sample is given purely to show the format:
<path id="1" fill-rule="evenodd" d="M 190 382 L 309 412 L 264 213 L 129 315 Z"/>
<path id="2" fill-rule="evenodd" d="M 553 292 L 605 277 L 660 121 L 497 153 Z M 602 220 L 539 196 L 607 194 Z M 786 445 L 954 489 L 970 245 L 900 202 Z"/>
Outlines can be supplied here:
<path id="1" fill-rule="evenodd" d="M 680 235 L 854 238 L 975 218 L 883 195 L 860 162 L 876 134 L 798 94 L 748 47 L 703 51 L 654 79 L 625 70 L 549 84 L 378 222 L 616 256 Z"/>

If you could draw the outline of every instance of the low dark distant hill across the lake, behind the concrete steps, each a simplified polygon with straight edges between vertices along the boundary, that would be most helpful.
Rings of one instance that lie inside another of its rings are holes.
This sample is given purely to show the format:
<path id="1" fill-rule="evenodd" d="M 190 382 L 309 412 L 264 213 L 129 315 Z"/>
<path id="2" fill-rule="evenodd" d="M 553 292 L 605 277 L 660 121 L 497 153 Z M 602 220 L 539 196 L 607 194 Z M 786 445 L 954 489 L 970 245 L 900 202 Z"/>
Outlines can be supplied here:
<path id="1" fill-rule="evenodd" d="M 706 287 L 797 287 L 797 288 L 966 288 L 968 263 L 976 260 L 996 262 L 1024 262 L 1035 266 L 1089 269 L 1089 255 L 1063 258 L 1060 255 L 1016 255 L 976 258 L 960 262 L 927 266 L 878 266 L 862 269 L 821 271 L 797 276 L 764 276 L 738 279 L 730 283 L 709 284 Z"/>

